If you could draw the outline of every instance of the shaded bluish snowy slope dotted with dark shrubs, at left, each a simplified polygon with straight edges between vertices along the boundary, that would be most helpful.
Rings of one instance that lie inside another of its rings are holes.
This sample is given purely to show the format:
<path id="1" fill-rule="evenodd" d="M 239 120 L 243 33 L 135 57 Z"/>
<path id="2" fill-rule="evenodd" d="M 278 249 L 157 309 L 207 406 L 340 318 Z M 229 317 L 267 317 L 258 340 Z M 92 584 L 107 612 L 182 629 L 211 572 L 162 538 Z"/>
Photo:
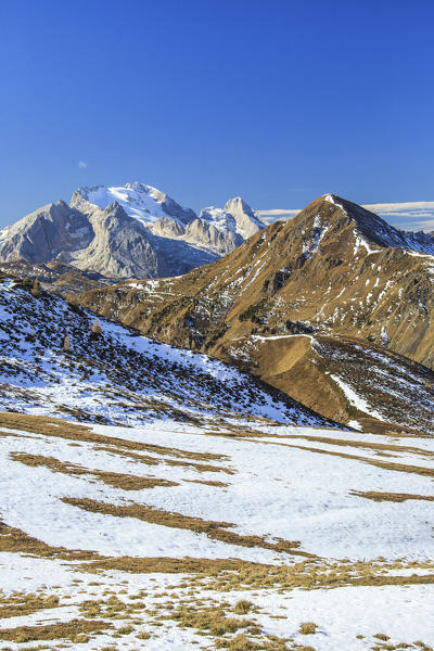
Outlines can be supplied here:
<path id="1" fill-rule="evenodd" d="M 20 282 L 17 283 L 20 285 Z M 22 283 L 23 284 L 23 283 Z M 51 294 L 0 285 L 0 406 L 106 423 L 243 414 L 288 423 L 326 420 L 232 367 L 94 316 Z M 65 337 L 68 348 L 65 348 Z"/>

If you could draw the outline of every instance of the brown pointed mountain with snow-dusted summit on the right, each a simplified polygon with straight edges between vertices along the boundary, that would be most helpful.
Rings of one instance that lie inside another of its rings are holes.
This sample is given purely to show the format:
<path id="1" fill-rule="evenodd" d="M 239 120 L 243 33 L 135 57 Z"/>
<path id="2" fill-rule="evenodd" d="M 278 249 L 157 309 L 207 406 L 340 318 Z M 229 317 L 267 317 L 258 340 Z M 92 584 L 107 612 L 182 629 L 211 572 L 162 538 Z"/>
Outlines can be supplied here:
<path id="1" fill-rule="evenodd" d="M 79 302 L 166 342 L 210 352 L 256 372 L 317 410 L 316 387 L 322 378 L 322 412 L 329 401 L 335 405 L 333 418 L 345 421 L 348 400 L 327 374 L 334 354 L 303 353 L 302 370 L 294 374 L 294 337 L 356 337 L 372 359 L 383 350 L 395 352 L 434 369 L 433 245 L 429 237 L 403 233 L 328 195 L 182 278 L 153 285 L 144 281 L 135 289 L 116 285 L 116 299 L 110 289 L 92 291 Z M 267 353 L 269 336 L 283 337 L 278 356 Z M 432 375 L 426 382 L 432 392 Z"/>

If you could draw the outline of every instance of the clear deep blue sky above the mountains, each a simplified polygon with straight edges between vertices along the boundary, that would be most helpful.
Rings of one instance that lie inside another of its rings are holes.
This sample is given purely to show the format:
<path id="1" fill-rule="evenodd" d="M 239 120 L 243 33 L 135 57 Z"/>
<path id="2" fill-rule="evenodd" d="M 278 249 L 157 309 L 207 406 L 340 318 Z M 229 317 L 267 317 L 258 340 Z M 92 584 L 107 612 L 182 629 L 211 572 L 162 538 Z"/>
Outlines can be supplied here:
<path id="1" fill-rule="evenodd" d="M 1 225 L 135 180 L 195 209 L 434 201 L 432 0 L 2 0 L 0 24 Z"/>

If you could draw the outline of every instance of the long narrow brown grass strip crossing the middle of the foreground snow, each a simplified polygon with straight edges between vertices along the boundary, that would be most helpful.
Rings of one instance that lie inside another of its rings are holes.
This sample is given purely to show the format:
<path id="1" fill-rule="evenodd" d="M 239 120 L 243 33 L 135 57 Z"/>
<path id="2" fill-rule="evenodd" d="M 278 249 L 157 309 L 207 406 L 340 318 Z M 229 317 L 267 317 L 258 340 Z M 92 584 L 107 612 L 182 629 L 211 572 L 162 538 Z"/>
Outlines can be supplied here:
<path id="1" fill-rule="evenodd" d="M 228 532 L 227 527 L 235 526 L 230 522 L 216 522 L 202 520 L 202 518 L 192 518 L 182 515 L 173 511 L 164 511 L 144 505 L 117 506 L 94 499 L 78 499 L 74 497 L 63 497 L 62 501 L 74 507 L 90 511 L 92 513 L 104 513 L 117 518 L 136 518 L 143 522 L 152 522 L 162 526 L 173 528 L 190 529 L 199 534 L 206 534 L 208 538 L 227 542 L 228 545 L 240 545 L 241 547 L 261 547 L 277 552 L 306 556 L 316 558 L 315 554 L 303 552 L 298 549 L 299 541 L 278 539 L 277 542 L 268 542 L 260 536 L 241 536 L 234 532 Z"/>

